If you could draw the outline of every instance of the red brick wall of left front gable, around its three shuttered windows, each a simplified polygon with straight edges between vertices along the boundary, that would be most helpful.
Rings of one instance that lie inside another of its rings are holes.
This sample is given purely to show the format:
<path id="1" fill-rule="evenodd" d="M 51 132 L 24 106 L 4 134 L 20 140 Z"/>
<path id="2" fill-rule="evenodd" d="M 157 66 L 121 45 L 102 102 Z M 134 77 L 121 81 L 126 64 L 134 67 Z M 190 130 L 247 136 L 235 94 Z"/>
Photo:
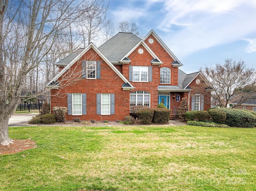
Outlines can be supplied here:
<path id="1" fill-rule="evenodd" d="M 101 61 L 101 79 L 80 79 L 72 85 L 63 87 L 63 89 L 51 90 L 51 112 L 54 106 L 67 107 L 67 93 L 86 93 L 87 114 L 82 116 L 67 115 L 67 120 L 77 117 L 81 120 L 124 120 L 124 116 L 130 114 L 130 91 L 122 89 L 124 81 L 92 49 L 74 63 L 70 70 L 81 71 L 79 63 L 86 59 Z M 76 68 L 76 66 L 78 67 Z M 115 114 L 108 116 L 96 114 L 97 93 L 115 94 Z M 56 94 L 59 96 L 54 96 Z"/>

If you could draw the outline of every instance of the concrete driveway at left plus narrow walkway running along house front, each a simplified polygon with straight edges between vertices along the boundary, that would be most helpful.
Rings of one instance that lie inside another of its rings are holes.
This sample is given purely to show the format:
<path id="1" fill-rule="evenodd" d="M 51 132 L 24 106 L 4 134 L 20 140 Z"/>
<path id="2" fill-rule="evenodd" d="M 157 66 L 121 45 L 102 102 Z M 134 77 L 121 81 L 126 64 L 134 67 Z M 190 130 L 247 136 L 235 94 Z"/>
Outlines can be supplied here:
<path id="1" fill-rule="evenodd" d="M 28 124 L 28 120 L 32 119 L 33 116 L 38 115 L 38 113 L 14 113 L 9 119 L 9 127 L 20 127 L 20 126 L 128 126 L 125 124 Z M 168 124 L 154 124 L 149 126 L 185 126 L 185 122 L 180 122 L 178 120 L 169 120 Z M 134 126 L 134 125 L 133 125 Z M 146 125 L 140 125 L 146 126 Z M 148 126 L 148 125 L 147 125 Z"/>

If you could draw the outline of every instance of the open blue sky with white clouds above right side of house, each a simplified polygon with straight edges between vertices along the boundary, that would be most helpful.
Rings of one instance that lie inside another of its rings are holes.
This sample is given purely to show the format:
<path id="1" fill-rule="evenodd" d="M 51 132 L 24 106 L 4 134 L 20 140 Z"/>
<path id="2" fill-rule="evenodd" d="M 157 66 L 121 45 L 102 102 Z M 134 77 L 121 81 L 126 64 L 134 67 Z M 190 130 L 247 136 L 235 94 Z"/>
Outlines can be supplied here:
<path id="1" fill-rule="evenodd" d="M 186 73 L 227 58 L 256 69 L 256 0 L 110 0 L 107 16 L 153 29 Z"/>

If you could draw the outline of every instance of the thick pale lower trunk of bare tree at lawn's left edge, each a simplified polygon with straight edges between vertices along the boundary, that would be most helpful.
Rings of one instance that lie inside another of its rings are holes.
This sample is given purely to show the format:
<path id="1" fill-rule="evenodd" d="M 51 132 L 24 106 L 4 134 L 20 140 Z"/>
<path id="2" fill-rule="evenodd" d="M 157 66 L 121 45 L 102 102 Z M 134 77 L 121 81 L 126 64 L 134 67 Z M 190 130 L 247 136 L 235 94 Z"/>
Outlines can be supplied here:
<path id="1" fill-rule="evenodd" d="M 9 145 L 13 143 L 13 140 L 9 138 L 8 121 L 10 116 L 8 114 L 2 114 L 0 116 L 0 145 Z"/>

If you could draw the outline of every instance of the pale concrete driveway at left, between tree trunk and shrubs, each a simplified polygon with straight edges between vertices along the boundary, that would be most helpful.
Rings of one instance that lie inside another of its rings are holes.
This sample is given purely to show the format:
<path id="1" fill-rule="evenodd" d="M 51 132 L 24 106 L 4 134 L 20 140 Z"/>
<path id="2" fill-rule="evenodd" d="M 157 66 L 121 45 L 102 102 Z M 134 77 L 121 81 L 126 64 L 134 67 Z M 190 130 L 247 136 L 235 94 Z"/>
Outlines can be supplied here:
<path id="1" fill-rule="evenodd" d="M 28 124 L 28 120 L 32 119 L 32 117 L 36 115 L 38 115 L 38 113 L 14 113 L 9 119 L 8 126 L 31 126 Z"/>

